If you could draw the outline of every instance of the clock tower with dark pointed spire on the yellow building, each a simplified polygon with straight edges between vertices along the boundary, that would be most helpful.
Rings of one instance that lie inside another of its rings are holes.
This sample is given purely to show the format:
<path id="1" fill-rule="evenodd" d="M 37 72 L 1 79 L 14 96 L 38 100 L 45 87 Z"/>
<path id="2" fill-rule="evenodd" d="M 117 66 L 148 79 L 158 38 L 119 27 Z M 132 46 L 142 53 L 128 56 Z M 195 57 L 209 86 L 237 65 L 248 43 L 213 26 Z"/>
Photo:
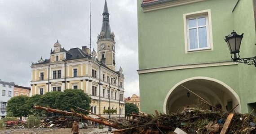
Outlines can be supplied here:
<path id="1" fill-rule="evenodd" d="M 115 34 L 111 33 L 106 0 L 102 17 L 102 29 L 97 37 L 97 58 L 111 70 L 115 71 Z"/>

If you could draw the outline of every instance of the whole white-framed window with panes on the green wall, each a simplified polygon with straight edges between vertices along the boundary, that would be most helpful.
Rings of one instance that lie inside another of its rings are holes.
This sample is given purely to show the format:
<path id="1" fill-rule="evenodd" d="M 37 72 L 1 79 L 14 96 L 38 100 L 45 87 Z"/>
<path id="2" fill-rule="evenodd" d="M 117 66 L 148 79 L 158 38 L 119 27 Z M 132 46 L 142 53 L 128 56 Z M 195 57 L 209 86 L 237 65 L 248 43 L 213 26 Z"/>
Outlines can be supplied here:
<path id="1" fill-rule="evenodd" d="M 186 13 L 184 17 L 185 50 L 213 50 L 210 10 Z"/>

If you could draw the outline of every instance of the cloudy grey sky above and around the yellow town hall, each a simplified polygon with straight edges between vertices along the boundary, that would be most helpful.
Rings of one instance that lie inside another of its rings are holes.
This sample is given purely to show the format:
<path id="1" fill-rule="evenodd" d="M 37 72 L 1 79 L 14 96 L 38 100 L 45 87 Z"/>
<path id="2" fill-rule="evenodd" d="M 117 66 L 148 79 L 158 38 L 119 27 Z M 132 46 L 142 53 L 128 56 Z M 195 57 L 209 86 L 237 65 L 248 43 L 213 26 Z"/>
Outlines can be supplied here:
<path id="1" fill-rule="evenodd" d="M 31 63 L 49 59 L 53 44 L 92 48 L 102 26 L 105 0 L 0 0 L 0 80 L 30 87 Z M 115 34 L 116 69 L 122 66 L 125 97 L 139 95 L 137 0 L 107 0 Z"/>

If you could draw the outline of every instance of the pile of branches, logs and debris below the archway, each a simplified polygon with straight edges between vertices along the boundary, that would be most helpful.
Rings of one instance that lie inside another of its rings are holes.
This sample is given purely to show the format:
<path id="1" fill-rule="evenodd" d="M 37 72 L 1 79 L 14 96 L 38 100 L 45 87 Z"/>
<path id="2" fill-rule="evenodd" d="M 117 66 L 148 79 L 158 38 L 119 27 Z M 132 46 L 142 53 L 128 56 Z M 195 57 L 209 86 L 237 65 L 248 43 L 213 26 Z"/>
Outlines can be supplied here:
<path id="1" fill-rule="evenodd" d="M 136 117 L 135 120 L 122 121 L 119 119 L 113 120 L 101 117 L 99 115 L 97 115 L 99 119 L 95 119 L 84 114 L 76 113 L 74 110 L 72 110 L 72 112 L 67 112 L 58 109 L 51 109 L 49 107 L 45 108 L 35 106 L 35 108 L 46 110 L 48 112 L 82 117 L 102 125 L 116 128 L 118 130 L 113 132 L 120 132 L 120 134 L 173 134 L 175 131 L 182 131 L 182 133 L 174 134 L 256 133 L 256 117 L 250 114 L 227 113 L 223 111 L 213 112 L 211 110 L 186 108 L 184 113 L 159 115 L 145 113 L 140 115 L 132 114 L 132 116 Z M 87 112 L 90 113 L 90 111 Z M 65 119 L 59 119 L 56 121 L 65 121 Z"/>

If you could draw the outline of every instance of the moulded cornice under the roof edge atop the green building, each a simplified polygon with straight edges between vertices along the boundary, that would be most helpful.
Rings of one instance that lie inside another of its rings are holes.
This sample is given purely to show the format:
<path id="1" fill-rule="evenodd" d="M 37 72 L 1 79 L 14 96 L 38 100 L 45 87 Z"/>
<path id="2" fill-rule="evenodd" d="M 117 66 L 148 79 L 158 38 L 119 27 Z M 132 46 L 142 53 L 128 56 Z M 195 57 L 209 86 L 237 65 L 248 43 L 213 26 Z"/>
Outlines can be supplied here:
<path id="1" fill-rule="evenodd" d="M 141 4 L 141 7 L 143 8 L 143 12 L 149 12 L 149 11 L 177 7 L 185 4 L 192 4 L 196 2 L 202 2 L 202 1 L 207 1 L 207 0 L 159 0 L 153 3 Z"/>

